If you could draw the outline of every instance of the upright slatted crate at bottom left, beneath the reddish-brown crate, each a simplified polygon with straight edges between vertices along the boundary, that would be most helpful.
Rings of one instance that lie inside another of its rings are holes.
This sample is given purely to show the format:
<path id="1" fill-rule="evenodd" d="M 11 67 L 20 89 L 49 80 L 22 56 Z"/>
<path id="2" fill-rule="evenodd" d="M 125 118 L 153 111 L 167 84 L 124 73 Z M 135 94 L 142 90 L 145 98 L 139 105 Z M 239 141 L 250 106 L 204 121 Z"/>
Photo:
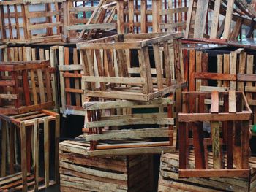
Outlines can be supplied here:
<path id="1" fill-rule="evenodd" d="M 20 115 L 0 115 L 0 118 L 2 120 L 1 176 L 6 175 L 8 154 L 10 174 L 14 174 L 14 165 L 19 163 L 18 157 L 20 157 L 21 177 L 19 177 L 19 181 L 16 183 L 19 185 L 22 184 L 18 187 L 20 190 L 27 191 L 28 187 L 31 188 L 31 185 L 33 185 L 34 190 L 37 191 L 39 183 L 43 182 L 45 188 L 48 188 L 49 185 L 53 185 L 54 183 L 59 183 L 59 114 L 48 110 L 40 110 Z M 54 126 L 50 126 L 51 122 L 54 123 Z M 43 137 L 39 137 L 39 129 L 42 128 L 40 127 L 41 125 L 43 127 Z M 52 128 L 54 129 L 53 131 L 51 130 Z M 50 143 L 50 133 L 54 133 L 54 144 Z M 20 145 L 17 145 L 17 138 L 20 139 Z M 10 146 L 7 146 L 7 141 Z M 43 143 L 44 146 L 43 162 L 45 176 L 43 179 L 39 177 L 39 143 L 40 145 Z M 53 147 L 54 153 L 50 153 L 50 149 L 53 149 Z M 53 157 L 54 161 L 50 161 L 50 157 Z M 55 167 L 54 180 L 50 180 L 50 162 L 53 162 Z M 31 177 L 29 177 L 31 175 L 30 172 L 33 172 Z M 16 178 L 15 175 L 12 178 Z"/>

